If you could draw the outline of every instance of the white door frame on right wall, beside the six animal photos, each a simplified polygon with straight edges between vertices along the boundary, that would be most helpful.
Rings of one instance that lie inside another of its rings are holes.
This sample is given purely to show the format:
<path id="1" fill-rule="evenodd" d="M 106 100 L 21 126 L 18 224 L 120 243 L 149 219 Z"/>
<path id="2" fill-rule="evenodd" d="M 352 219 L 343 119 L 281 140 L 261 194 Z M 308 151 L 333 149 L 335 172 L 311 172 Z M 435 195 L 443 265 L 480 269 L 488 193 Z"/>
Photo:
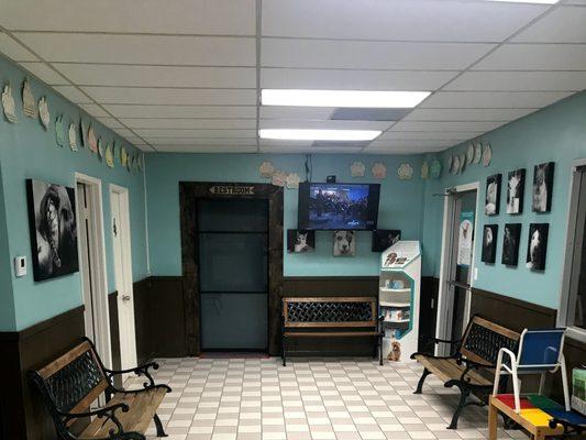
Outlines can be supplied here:
<path id="1" fill-rule="evenodd" d="M 471 184 L 464 184 L 458 185 L 451 188 L 445 188 L 444 190 L 444 205 L 443 205 L 443 224 L 442 224 L 442 250 L 441 250 L 441 262 L 440 262 L 440 292 L 438 294 L 438 319 L 435 320 L 435 338 L 439 339 L 450 339 L 451 337 L 451 322 L 446 322 L 445 319 L 442 319 L 442 317 L 445 317 L 447 304 L 446 304 L 446 297 L 447 297 L 447 278 L 450 276 L 450 258 L 452 255 L 452 249 L 450 249 L 450 244 L 452 242 L 452 237 L 450 237 L 454 231 L 454 222 L 452 218 L 452 212 L 454 209 L 454 198 L 453 196 L 457 193 L 466 193 L 476 190 L 476 215 L 474 216 L 474 245 L 472 248 L 472 264 L 471 264 L 471 287 L 474 286 L 474 278 L 475 278 L 475 258 L 474 253 L 476 252 L 476 239 L 477 239 L 477 231 L 478 231 L 478 217 L 480 213 L 480 206 L 479 206 L 479 189 L 480 184 L 479 182 L 473 182 Z M 446 233 L 447 232 L 447 233 Z M 465 298 L 465 315 L 463 319 L 464 327 L 467 324 L 469 320 L 471 315 L 471 296 L 472 293 L 468 289 L 466 292 L 466 298 Z M 442 344 L 444 345 L 444 344 Z M 443 349 L 445 346 L 435 345 L 436 353 L 442 354 Z"/>

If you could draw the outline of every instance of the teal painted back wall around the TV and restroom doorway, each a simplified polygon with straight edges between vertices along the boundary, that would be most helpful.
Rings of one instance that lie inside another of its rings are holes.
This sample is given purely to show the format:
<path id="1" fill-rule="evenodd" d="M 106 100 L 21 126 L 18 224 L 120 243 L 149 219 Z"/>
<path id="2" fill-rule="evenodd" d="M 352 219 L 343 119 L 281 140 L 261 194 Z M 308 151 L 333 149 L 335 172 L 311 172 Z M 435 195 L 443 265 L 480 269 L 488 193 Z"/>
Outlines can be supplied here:
<path id="1" fill-rule="evenodd" d="M 305 155 L 263 154 L 150 154 L 146 158 L 148 244 L 153 275 L 180 275 L 179 185 L 180 180 L 268 183 L 258 175 L 258 165 L 272 161 L 276 168 L 298 173 L 305 179 Z M 364 178 L 352 178 L 350 165 L 362 161 Z M 423 182 L 419 177 L 421 156 L 313 155 L 313 182 L 336 175 L 338 182 L 376 183 L 371 168 L 386 164 L 387 178 L 380 180 L 380 229 L 400 229 L 403 238 L 420 240 L 422 230 Z M 409 162 L 412 180 L 399 180 L 397 167 Z M 285 229 L 297 228 L 296 189 L 285 189 Z M 317 232 L 312 254 L 285 253 L 285 275 L 378 275 L 378 253 L 371 251 L 371 232 L 358 232 L 355 257 L 332 256 L 332 232 Z"/>

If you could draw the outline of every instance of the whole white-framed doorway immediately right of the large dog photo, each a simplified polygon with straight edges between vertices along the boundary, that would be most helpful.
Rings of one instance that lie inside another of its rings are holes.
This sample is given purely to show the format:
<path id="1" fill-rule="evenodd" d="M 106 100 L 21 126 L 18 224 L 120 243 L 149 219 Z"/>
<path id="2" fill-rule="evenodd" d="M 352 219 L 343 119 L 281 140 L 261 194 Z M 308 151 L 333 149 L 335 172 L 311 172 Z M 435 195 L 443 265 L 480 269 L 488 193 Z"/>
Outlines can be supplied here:
<path id="1" fill-rule="evenodd" d="M 100 179 L 79 173 L 76 179 L 79 275 L 85 306 L 86 336 L 96 343 L 104 364 L 112 367 L 110 312 Z"/>

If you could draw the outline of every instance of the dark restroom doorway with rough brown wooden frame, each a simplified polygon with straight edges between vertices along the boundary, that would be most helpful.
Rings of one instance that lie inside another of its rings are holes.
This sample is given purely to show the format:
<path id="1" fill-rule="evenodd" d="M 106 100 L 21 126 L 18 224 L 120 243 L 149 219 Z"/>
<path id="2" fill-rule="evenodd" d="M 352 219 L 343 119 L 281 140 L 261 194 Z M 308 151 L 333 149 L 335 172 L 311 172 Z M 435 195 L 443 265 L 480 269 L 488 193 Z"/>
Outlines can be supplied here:
<path id="1" fill-rule="evenodd" d="M 179 183 L 186 348 L 279 353 L 283 188 Z"/>

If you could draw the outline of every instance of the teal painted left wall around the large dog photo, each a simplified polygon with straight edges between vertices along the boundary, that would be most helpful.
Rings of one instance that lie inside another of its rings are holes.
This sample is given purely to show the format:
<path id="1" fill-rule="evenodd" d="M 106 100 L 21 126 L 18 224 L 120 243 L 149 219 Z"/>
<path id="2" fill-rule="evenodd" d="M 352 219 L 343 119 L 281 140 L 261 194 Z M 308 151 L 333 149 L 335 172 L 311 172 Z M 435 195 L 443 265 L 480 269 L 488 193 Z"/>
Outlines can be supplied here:
<path id="1" fill-rule="evenodd" d="M 8 234 L 10 264 L 8 266 L 12 266 L 12 258 L 16 255 L 26 255 L 29 262 L 29 274 L 25 277 L 15 278 L 13 271 L 10 270 L 14 317 L 10 319 L 10 316 L 7 317 L 5 312 L 0 312 L 0 330 L 21 330 L 82 304 L 78 273 L 42 283 L 35 283 L 33 280 L 29 216 L 26 210 L 26 178 L 75 186 L 74 175 L 75 172 L 79 172 L 102 179 L 103 220 L 107 228 L 107 271 L 110 290 L 114 290 L 114 278 L 112 243 L 109 234 L 109 184 L 117 184 L 129 188 L 132 222 L 133 276 L 134 279 L 140 279 L 146 274 L 143 174 L 137 170 L 129 173 L 119 163 L 115 168 L 110 169 L 104 162 L 99 161 L 97 155 L 88 148 L 80 148 L 77 153 L 74 153 L 69 147 L 58 147 L 55 140 L 54 125 L 57 114 L 65 114 L 64 120 L 67 127 L 71 118 L 76 122 L 79 122 L 81 116 L 85 121 L 90 121 L 91 118 L 84 114 L 78 107 L 71 105 L 63 97 L 52 92 L 42 82 L 29 76 L 34 97 L 37 100 L 44 95 L 47 97 L 51 111 L 51 125 L 45 131 L 37 119 L 26 118 L 22 112 L 22 99 L 20 95 L 24 77 L 24 72 L 4 58 L 0 58 L 0 84 L 11 82 L 19 118 L 15 124 L 9 123 L 3 117 L 0 119 L 0 163 L 2 165 L 4 202 L 4 209 L 1 210 L 0 217 L 5 217 L 0 220 L 0 230 L 2 229 L 3 222 L 5 222 L 5 230 L 10 231 Z M 95 120 L 91 121 L 96 129 L 96 134 L 101 135 L 106 142 L 113 140 L 121 142 L 121 139 L 112 131 Z M 128 143 L 125 145 L 130 147 Z M 3 232 L 3 230 L 0 232 Z M 0 252 L 2 251 L 3 240 L 4 238 L 0 239 Z M 2 271 L 4 271 L 7 262 L 4 260 L 2 262 Z M 3 272 L 0 272 L 0 276 L 3 277 L 4 275 Z M 3 307 L 4 298 L 1 298 Z M 10 304 L 7 306 L 10 308 Z"/>

